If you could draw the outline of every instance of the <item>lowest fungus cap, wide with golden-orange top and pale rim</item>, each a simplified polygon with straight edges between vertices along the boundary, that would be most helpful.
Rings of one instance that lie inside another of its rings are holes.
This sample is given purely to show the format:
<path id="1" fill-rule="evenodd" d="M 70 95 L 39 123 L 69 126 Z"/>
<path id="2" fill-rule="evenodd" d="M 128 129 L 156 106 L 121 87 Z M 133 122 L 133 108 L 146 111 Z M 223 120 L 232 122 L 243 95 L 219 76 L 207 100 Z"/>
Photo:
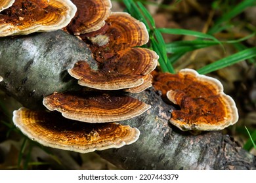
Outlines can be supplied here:
<path id="1" fill-rule="evenodd" d="M 80 153 L 120 148 L 139 138 L 140 131 L 117 123 L 87 124 L 68 120 L 56 112 L 20 108 L 13 112 L 16 127 L 44 146 Z"/>

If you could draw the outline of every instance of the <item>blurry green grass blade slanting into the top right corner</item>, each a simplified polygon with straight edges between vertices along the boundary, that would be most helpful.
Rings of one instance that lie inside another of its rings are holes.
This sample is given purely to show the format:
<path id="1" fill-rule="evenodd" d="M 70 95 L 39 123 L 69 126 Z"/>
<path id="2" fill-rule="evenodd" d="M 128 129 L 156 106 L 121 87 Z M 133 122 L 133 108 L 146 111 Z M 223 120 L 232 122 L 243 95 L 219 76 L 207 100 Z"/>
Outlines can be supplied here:
<path id="1" fill-rule="evenodd" d="M 232 8 L 230 11 L 226 12 L 226 14 L 223 14 L 223 16 L 215 22 L 215 25 L 213 25 L 213 27 L 211 27 L 211 29 L 209 29 L 208 33 L 212 35 L 214 33 L 219 32 L 219 30 L 222 28 L 221 24 L 223 24 L 223 22 L 227 22 L 228 20 L 234 18 L 235 16 L 237 16 L 238 14 L 243 12 L 245 10 L 245 8 L 253 7 L 253 5 L 256 5 L 255 0 L 242 1 L 241 3 L 236 5 L 236 7 Z"/>

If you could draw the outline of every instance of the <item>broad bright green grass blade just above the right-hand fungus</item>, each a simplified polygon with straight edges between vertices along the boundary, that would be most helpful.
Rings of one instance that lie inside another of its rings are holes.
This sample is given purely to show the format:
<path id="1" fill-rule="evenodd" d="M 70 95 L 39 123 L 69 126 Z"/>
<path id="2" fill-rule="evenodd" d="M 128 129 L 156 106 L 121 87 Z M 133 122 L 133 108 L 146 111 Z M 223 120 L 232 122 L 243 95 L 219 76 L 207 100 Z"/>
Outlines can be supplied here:
<path id="1" fill-rule="evenodd" d="M 218 69 L 222 69 L 234 63 L 238 63 L 239 61 L 256 57 L 256 47 L 255 48 L 248 48 L 236 54 L 232 54 L 223 59 L 219 59 L 219 61 L 215 61 L 214 63 L 210 63 L 205 67 L 198 69 L 198 73 L 205 75 L 207 73 L 211 73 L 212 71 L 216 71 Z"/>

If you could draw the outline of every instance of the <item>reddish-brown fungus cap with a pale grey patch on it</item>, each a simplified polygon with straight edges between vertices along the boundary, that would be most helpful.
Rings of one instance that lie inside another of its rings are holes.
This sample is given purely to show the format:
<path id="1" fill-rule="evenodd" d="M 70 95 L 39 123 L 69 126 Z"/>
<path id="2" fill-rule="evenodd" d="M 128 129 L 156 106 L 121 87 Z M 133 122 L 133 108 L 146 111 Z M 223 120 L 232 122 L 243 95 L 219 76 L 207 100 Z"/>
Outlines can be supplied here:
<path id="1" fill-rule="evenodd" d="M 146 26 L 125 12 L 113 12 L 106 20 L 106 25 L 96 31 L 80 35 L 86 41 L 95 59 L 109 58 L 119 50 L 142 46 L 148 42 Z"/>

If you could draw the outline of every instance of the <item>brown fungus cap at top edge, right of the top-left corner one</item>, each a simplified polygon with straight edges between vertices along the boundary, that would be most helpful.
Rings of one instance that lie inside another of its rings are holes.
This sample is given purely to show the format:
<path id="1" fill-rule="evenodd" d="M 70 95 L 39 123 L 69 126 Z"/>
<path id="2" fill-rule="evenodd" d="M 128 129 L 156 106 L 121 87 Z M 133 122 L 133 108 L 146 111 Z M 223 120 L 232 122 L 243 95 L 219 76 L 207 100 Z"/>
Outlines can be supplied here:
<path id="1" fill-rule="evenodd" d="M 68 24 L 68 31 L 74 35 L 89 33 L 100 29 L 110 16 L 110 0 L 72 0 L 77 7 L 73 20 Z"/>

